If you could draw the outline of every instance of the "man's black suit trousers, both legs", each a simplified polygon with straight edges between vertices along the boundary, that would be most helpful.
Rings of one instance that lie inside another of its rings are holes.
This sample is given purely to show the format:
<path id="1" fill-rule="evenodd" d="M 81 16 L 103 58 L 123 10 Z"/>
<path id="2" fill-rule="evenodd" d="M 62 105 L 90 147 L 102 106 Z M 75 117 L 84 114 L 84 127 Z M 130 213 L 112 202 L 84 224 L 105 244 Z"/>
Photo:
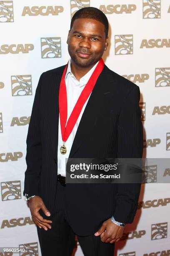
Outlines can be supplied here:
<path id="1" fill-rule="evenodd" d="M 57 182 L 57 210 L 53 213 L 52 218 L 40 211 L 43 218 L 52 220 L 52 228 L 47 231 L 37 227 L 42 256 L 55 254 L 57 256 L 71 256 L 74 247 L 76 247 L 75 233 L 68 223 L 65 212 L 65 199 L 66 189 L 60 182 Z M 92 234 L 90 236 L 77 236 L 77 239 L 85 256 L 114 256 L 115 243 L 103 243 L 100 236 L 96 237 Z"/>

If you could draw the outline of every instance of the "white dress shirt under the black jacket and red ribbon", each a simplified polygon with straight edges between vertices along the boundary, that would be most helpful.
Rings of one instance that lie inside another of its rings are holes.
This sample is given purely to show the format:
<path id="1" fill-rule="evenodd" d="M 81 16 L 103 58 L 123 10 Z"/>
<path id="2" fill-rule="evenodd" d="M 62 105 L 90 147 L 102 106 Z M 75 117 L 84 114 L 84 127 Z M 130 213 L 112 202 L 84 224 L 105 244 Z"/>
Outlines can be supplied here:
<path id="1" fill-rule="evenodd" d="M 98 61 L 99 62 L 99 61 Z M 65 74 L 65 85 L 67 90 L 67 120 L 70 117 L 70 114 L 72 113 L 72 110 L 82 92 L 85 85 L 87 84 L 88 80 L 90 79 L 92 72 L 95 70 L 98 62 L 90 69 L 87 74 L 85 74 L 83 77 L 80 78 L 80 81 L 78 81 L 75 76 L 71 72 L 71 59 L 68 62 L 67 72 Z M 90 96 L 89 96 L 90 97 Z M 61 126 L 60 126 L 60 115 L 59 115 L 59 122 L 58 122 L 58 152 L 57 152 L 57 159 L 58 159 L 58 174 L 61 174 L 62 176 L 66 176 L 65 173 L 65 159 L 68 158 L 70 154 L 70 150 L 72 147 L 72 143 L 75 138 L 75 134 L 77 132 L 78 125 L 80 123 L 82 114 L 85 110 L 85 107 L 87 105 L 87 102 L 89 100 L 86 100 L 84 106 L 82 107 L 82 110 L 80 112 L 80 115 L 77 119 L 77 122 L 75 123 L 74 128 L 72 129 L 72 132 L 70 133 L 70 136 L 68 137 L 67 141 L 65 142 L 65 146 L 67 148 L 67 153 L 65 155 L 62 155 L 60 153 L 60 147 L 63 145 L 62 141 L 62 135 L 61 135 Z M 67 123 L 66 123 L 67 124 Z"/>

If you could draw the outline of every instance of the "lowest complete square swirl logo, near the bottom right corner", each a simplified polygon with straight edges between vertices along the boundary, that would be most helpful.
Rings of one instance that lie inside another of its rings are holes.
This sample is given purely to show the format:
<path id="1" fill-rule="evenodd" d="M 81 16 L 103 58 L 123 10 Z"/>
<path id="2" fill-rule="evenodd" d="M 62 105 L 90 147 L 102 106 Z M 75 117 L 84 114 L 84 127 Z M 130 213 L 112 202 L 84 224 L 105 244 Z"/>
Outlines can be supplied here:
<path id="1" fill-rule="evenodd" d="M 157 223 L 151 226 L 151 240 L 167 238 L 168 223 Z"/>

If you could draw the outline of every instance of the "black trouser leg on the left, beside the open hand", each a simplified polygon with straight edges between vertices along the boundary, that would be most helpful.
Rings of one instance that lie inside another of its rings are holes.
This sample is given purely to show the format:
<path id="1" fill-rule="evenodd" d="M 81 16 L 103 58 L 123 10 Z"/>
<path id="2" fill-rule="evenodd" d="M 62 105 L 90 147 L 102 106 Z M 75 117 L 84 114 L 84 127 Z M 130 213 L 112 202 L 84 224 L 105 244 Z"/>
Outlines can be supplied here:
<path id="1" fill-rule="evenodd" d="M 42 256 L 71 256 L 75 247 L 75 233 L 67 222 L 65 213 L 65 187 L 57 182 L 57 210 L 53 216 L 47 217 L 42 210 L 43 218 L 52 220 L 51 229 L 47 231 L 37 227 Z"/>

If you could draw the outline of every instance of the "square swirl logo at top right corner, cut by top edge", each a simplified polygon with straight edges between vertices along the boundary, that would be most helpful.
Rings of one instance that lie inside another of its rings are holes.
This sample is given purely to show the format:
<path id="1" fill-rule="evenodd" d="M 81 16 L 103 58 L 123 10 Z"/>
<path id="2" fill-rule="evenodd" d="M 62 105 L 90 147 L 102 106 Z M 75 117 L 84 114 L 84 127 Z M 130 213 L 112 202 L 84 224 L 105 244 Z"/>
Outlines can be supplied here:
<path id="1" fill-rule="evenodd" d="M 143 18 L 160 18 L 160 0 L 143 0 Z"/>

